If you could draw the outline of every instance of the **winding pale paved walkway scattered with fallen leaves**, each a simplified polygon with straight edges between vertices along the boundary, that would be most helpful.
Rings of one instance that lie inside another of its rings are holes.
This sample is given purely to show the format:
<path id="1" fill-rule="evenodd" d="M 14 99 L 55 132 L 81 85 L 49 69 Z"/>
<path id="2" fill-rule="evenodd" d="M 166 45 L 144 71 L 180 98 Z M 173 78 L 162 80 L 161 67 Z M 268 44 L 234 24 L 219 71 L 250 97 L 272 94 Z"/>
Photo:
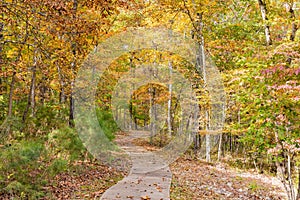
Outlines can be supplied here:
<path id="1" fill-rule="evenodd" d="M 109 188 L 102 200 L 167 200 L 170 199 L 172 173 L 163 160 L 154 156 L 132 140 L 148 137 L 149 132 L 134 131 L 118 139 L 118 144 L 129 153 L 132 168 L 127 177 Z"/>

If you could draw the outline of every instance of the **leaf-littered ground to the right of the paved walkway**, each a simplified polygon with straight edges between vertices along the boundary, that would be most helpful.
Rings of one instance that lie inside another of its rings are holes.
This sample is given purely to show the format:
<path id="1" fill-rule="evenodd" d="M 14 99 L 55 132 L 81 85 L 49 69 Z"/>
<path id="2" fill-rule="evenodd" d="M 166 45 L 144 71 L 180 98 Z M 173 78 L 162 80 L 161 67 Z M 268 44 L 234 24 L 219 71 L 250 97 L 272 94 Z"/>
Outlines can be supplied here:
<path id="1" fill-rule="evenodd" d="M 170 168 L 171 199 L 286 199 L 280 181 L 271 176 L 188 158 Z"/>

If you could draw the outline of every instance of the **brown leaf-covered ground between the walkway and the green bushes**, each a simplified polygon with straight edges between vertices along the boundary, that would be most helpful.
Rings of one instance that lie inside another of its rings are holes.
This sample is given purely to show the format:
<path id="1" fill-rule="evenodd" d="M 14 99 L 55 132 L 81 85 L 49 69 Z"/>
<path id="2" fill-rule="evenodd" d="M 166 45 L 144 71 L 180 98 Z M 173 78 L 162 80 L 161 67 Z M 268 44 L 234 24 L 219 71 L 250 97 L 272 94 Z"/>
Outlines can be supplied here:
<path id="1" fill-rule="evenodd" d="M 72 167 L 73 168 L 73 167 Z M 75 170 L 58 174 L 44 188 L 44 200 L 100 199 L 101 195 L 125 174 L 96 162 L 78 162 Z"/>

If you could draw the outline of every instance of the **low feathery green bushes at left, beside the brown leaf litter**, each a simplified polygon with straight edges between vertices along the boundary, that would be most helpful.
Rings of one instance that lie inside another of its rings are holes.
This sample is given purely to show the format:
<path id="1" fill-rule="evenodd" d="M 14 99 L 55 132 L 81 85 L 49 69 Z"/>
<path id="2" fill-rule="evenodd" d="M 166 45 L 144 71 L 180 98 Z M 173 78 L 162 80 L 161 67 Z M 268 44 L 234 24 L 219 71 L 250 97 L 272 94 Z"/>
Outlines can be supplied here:
<path id="1" fill-rule="evenodd" d="M 0 149 L 0 195 L 18 199 L 47 195 L 42 187 L 67 171 L 70 162 L 83 159 L 86 152 L 76 132 L 68 127 L 52 131 L 47 141 L 22 136 L 21 132 L 11 137 Z"/>

